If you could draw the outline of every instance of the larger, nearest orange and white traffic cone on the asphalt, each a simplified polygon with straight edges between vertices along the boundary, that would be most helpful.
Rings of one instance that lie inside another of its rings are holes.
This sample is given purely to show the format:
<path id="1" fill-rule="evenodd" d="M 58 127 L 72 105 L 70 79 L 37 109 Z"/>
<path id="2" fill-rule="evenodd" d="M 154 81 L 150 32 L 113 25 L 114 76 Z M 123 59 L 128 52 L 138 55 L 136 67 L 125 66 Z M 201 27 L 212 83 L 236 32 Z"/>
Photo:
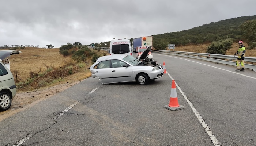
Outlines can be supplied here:
<path id="1" fill-rule="evenodd" d="M 169 103 L 169 105 L 165 105 L 165 108 L 167 108 L 168 110 L 171 110 L 171 111 L 181 110 L 184 108 L 184 106 L 179 105 L 179 103 L 178 103 L 176 85 L 175 85 L 174 80 L 172 80 L 170 103 Z"/>

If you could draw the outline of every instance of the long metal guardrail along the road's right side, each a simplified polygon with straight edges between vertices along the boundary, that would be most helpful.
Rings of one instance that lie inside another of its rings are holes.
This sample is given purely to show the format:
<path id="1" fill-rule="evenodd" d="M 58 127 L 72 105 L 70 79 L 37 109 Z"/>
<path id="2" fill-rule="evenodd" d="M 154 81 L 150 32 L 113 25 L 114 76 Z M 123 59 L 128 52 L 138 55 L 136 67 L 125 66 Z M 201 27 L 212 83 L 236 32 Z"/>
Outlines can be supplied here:
<path id="1" fill-rule="evenodd" d="M 222 55 L 222 54 L 209 54 L 209 53 L 194 53 L 194 52 L 183 52 L 183 51 L 169 51 L 169 50 L 152 50 L 154 53 L 166 54 L 166 55 L 176 55 L 188 58 L 201 59 L 211 62 L 217 62 L 221 64 L 234 65 L 236 66 L 237 56 L 232 55 Z M 219 58 L 219 59 L 216 59 Z M 225 60 L 226 59 L 226 60 Z M 256 71 L 256 57 L 245 57 L 244 61 L 251 62 L 251 64 L 245 64 L 245 68 L 252 69 Z"/>

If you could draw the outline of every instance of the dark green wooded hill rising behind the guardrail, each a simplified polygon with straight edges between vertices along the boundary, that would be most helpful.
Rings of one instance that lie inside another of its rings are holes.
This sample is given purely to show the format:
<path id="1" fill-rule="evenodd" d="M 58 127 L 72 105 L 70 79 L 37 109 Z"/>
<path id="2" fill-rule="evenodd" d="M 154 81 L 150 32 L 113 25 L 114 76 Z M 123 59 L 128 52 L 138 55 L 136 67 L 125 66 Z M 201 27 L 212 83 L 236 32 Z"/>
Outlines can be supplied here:
<path id="1" fill-rule="evenodd" d="M 254 19 L 256 19 L 256 15 L 243 16 L 221 20 L 218 22 L 211 22 L 209 24 L 204 24 L 189 30 L 168 32 L 165 34 L 155 34 L 152 35 L 153 47 L 154 44 L 157 43 L 171 43 L 175 44 L 176 46 L 204 45 L 209 44 L 212 41 L 218 41 L 226 38 L 233 38 L 236 42 L 239 40 L 246 42 L 246 39 L 242 38 L 244 32 L 241 30 L 240 25 L 247 20 Z M 133 38 L 130 40 L 132 42 Z M 95 43 L 95 45 L 97 47 L 109 47 L 110 41 Z"/>

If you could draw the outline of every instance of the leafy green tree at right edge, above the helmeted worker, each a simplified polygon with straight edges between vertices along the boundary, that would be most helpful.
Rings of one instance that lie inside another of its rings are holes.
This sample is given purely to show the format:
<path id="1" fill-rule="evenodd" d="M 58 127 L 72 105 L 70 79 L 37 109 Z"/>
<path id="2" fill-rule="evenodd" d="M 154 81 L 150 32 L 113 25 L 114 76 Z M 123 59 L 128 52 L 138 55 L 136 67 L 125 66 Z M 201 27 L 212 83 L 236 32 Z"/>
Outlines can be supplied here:
<path id="1" fill-rule="evenodd" d="M 247 39 L 248 49 L 256 48 L 256 20 L 248 20 L 241 24 L 243 36 Z"/>

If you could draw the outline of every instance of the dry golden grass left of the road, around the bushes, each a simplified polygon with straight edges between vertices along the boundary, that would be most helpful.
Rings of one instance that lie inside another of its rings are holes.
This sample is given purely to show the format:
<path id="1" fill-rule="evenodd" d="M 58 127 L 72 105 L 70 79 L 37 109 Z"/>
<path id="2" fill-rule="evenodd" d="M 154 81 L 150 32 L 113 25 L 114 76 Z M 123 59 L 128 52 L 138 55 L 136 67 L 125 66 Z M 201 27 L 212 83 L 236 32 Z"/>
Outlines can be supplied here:
<path id="1" fill-rule="evenodd" d="M 43 73 L 49 68 L 60 68 L 68 64 L 68 62 L 72 61 L 70 56 L 63 57 L 63 55 L 59 54 L 59 48 L 42 49 L 26 47 L 25 49 L 20 51 L 22 53 L 18 55 L 12 55 L 10 57 L 10 70 L 14 74 L 15 81 L 16 78 L 18 78 L 18 81 L 16 81 L 16 83 L 20 82 L 21 80 L 26 80 L 26 78 L 29 77 L 30 72 Z M 91 61 L 89 59 L 88 63 L 86 64 L 86 66 L 84 66 L 82 71 L 64 77 L 63 80 L 60 80 L 59 82 L 56 82 L 49 86 L 66 82 L 79 81 L 90 77 L 91 72 L 89 69 L 87 69 L 90 65 Z M 16 72 L 18 72 L 18 77 L 16 77 Z M 18 89 L 18 92 L 22 90 L 23 89 Z"/>

